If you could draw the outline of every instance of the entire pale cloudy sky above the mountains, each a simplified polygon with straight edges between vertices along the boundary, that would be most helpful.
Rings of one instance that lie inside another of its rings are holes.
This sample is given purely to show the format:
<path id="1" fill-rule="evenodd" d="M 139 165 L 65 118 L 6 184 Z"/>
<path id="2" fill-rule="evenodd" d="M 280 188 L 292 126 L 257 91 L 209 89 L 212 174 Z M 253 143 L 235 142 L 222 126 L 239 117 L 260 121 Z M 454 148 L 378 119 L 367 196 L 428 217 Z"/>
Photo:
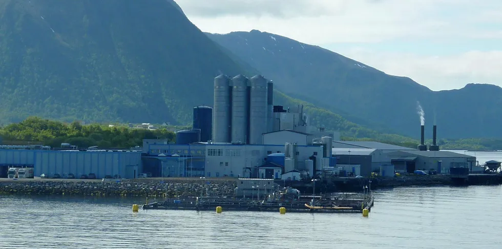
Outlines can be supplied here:
<path id="1" fill-rule="evenodd" d="M 501 0 L 175 0 L 199 29 L 257 29 L 432 90 L 502 86 Z"/>

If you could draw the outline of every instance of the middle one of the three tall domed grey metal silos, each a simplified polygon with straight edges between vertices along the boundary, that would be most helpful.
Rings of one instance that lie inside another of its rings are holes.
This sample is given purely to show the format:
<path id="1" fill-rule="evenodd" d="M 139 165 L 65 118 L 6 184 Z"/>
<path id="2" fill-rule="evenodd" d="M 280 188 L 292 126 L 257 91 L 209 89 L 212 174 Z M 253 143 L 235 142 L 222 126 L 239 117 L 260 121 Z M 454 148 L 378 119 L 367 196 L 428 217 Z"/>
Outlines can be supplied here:
<path id="1" fill-rule="evenodd" d="M 245 144 L 249 127 L 249 79 L 239 74 L 232 79 L 232 143 Z"/>

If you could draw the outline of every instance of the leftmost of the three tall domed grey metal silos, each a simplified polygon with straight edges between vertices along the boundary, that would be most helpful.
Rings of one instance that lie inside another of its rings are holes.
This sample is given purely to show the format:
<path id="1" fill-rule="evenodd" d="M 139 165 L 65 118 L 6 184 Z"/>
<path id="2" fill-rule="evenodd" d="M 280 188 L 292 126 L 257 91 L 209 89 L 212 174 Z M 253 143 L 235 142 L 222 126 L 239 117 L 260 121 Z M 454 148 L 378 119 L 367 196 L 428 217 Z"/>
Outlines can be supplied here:
<path id="1" fill-rule="evenodd" d="M 213 141 L 230 142 L 232 124 L 232 89 L 230 78 L 220 74 L 215 78 L 213 108 Z"/>

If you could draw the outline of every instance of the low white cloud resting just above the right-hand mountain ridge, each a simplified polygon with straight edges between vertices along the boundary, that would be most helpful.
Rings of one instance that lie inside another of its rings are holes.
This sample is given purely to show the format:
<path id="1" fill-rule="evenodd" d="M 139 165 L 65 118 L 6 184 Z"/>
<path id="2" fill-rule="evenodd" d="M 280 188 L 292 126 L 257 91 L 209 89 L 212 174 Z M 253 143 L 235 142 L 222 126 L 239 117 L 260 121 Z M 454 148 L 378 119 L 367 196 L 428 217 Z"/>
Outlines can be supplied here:
<path id="1" fill-rule="evenodd" d="M 424 56 L 352 48 L 342 54 L 385 73 L 410 77 L 434 91 L 459 89 L 468 83 L 502 86 L 502 70 L 499 70 L 502 68 L 502 50 Z"/>

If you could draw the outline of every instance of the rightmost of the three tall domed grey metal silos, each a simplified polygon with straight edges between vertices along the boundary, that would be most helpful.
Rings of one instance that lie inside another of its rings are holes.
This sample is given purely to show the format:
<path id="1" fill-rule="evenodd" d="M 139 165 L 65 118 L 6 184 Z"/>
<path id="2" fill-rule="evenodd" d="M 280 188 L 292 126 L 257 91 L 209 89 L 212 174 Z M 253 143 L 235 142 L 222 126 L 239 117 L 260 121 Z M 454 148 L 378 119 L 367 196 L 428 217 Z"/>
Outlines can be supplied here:
<path id="1" fill-rule="evenodd" d="M 250 79 L 250 103 L 249 103 L 249 143 L 262 144 L 263 133 L 267 127 L 267 80 L 261 75 L 255 75 Z"/>

